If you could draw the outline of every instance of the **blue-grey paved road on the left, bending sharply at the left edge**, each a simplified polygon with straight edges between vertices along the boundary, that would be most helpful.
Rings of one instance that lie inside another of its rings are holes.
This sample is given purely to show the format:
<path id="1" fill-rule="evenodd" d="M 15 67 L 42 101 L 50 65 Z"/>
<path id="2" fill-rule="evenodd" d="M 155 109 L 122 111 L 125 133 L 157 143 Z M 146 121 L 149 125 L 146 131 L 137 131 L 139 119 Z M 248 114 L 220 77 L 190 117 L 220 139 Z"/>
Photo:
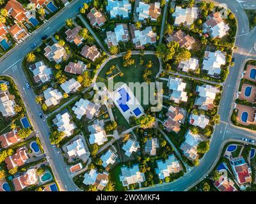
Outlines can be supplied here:
<path id="1" fill-rule="evenodd" d="M 54 34 L 58 29 L 65 25 L 65 20 L 67 18 L 74 17 L 79 12 L 79 7 L 84 2 L 86 1 L 77 0 L 67 6 L 65 10 L 61 11 L 61 13 L 51 18 L 51 20 L 40 27 L 40 29 L 31 35 L 27 41 L 19 45 L 18 49 L 14 48 L 5 59 L 2 58 L 0 63 L 0 74 L 10 75 L 15 79 L 20 94 L 22 95 L 22 98 L 24 98 L 24 103 L 27 106 L 29 116 L 31 117 L 36 131 L 38 131 L 45 153 L 49 156 L 49 163 L 59 182 L 61 191 L 76 191 L 77 187 L 68 175 L 63 157 L 61 154 L 57 154 L 49 141 L 48 133 L 50 132 L 50 129 L 48 128 L 47 123 L 38 116 L 41 109 L 34 101 L 35 94 L 32 90 L 26 90 L 26 82 L 28 81 L 22 71 L 21 62 L 24 55 L 31 51 L 31 44 L 36 43 L 37 45 L 40 45 L 42 36 L 45 34 L 47 36 Z"/>

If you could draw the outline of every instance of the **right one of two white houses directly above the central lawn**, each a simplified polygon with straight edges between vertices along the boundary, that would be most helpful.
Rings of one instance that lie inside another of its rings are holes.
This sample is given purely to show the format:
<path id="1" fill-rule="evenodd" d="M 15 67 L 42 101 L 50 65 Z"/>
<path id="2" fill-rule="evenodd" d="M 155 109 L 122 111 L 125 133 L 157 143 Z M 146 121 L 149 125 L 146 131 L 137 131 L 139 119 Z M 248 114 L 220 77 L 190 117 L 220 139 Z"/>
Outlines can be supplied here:
<path id="1" fill-rule="evenodd" d="M 135 28 L 132 24 L 130 25 L 132 43 L 137 49 L 144 48 L 147 44 L 156 43 L 157 34 L 152 31 L 152 27 L 148 26 L 143 31 L 140 31 Z"/>

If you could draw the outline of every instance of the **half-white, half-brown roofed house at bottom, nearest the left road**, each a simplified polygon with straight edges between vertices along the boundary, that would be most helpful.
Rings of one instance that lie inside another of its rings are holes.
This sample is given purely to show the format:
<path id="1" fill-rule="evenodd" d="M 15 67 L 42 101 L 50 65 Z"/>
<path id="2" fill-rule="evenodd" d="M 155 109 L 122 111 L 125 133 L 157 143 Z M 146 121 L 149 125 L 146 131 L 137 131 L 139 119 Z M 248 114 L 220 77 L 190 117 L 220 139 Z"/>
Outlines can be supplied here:
<path id="1" fill-rule="evenodd" d="M 108 173 L 106 171 L 97 173 L 95 169 L 92 169 L 84 174 L 83 184 L 96 186 L 99 191 L 102 191 L 108 184 Z"/>

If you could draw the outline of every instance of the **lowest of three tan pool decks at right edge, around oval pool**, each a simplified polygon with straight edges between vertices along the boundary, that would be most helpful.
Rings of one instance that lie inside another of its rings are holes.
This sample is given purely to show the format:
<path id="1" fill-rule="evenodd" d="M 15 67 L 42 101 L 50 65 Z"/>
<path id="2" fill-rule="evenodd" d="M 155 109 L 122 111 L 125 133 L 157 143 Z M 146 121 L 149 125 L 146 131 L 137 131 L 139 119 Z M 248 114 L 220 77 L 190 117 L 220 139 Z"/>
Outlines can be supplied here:
<path id="1" fill-rule="evenodd" d="M 239 105 L 237 104 L 236 105 L 236 109 L 238 111 L 237 113 L 237 117 L 236 117 L 236 121 L 239 123 L 239 124 L 242 124 L 244 126 L 248 126 L 250 124 L 256 124 L 256 122 L 253 122 L 253 113 L 255 112 L 255 108 L 253 107 L 250 107 L 250 106 L 244 106 L 244 105 Z M 241 120 L 241 115 L 243 112 L 247 112 L 248 113 L 248 119 L 247 119 L 247 122 L 243 122 Z"/>

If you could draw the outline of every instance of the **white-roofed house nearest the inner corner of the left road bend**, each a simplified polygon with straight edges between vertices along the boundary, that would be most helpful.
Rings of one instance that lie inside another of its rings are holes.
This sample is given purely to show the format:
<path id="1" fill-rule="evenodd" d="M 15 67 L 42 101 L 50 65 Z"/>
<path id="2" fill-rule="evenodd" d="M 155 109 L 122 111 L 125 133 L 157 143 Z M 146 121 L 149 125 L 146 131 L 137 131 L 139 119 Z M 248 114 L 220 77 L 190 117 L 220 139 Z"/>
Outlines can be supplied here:
<path id="1" fill-rule="evenodd" d="M 44 61 L 31 64 L 29 69 L 33 72 L 34 80 L 36 83 L 45 83 L 51 80 L 52 69 L 44 64 Z"/>

